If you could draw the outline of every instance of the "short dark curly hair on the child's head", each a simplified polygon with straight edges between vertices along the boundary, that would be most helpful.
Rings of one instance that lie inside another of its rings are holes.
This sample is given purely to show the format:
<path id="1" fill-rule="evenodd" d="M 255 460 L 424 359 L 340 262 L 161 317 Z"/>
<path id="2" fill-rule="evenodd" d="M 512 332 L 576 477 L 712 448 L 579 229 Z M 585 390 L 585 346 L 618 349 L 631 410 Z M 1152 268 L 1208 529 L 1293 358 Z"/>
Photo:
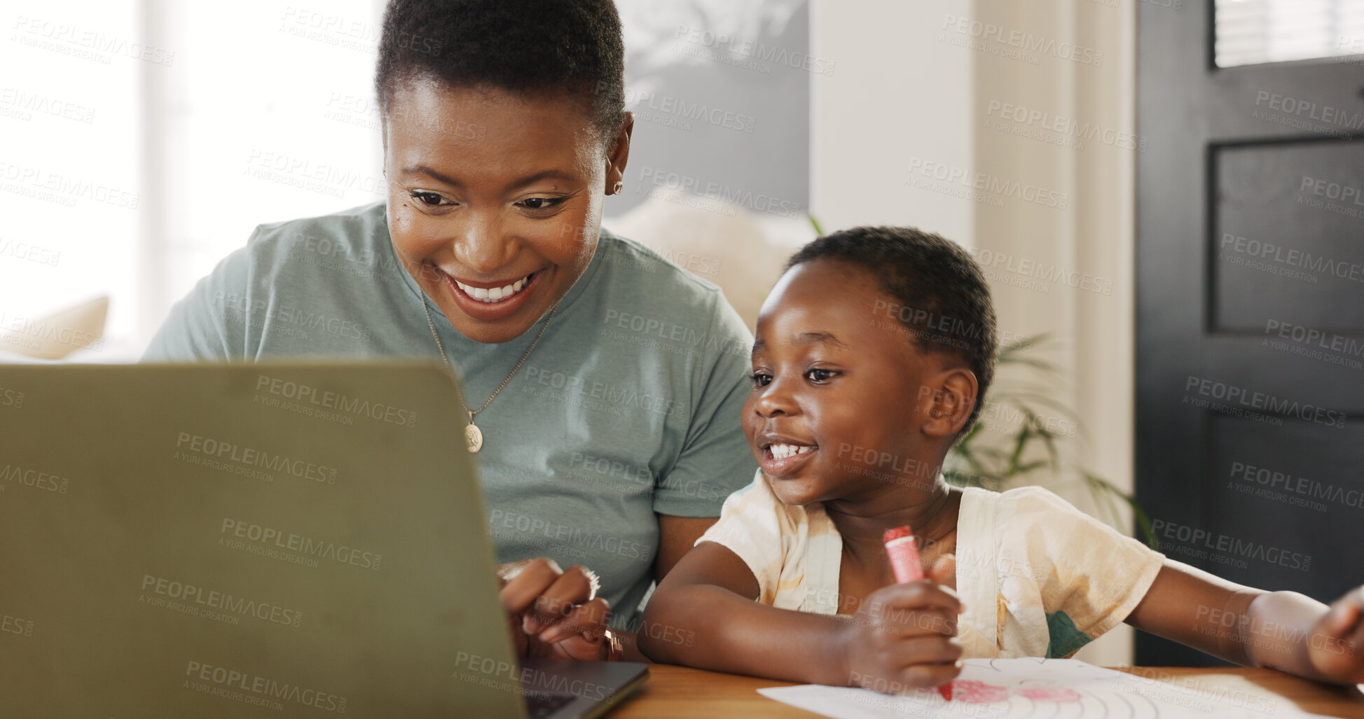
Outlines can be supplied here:
<path id="1" fill-rule="evenodd" d="M 861 226 L 818 237 L 792 255 L 786 269 L 816 259 L 870 272 L 893 300 L 877 307 L 877 317 L 899 319 L 919 351 L 949 352 L 970 366 L 979 392 L 962 427 L 966 434 L 985 404 L 998 342 L 990 288 L 975 259 L 951 240 L 902 226 Z"/>

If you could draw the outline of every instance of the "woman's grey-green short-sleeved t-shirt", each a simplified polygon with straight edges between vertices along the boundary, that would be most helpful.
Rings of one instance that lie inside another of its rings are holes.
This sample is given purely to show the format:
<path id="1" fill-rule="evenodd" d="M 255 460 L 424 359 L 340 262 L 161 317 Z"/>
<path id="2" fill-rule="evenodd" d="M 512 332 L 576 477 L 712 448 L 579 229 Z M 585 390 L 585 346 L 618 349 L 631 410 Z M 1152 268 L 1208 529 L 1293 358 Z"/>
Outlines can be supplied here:
<path id="1" fill-rule="evenodd" d="M 176 303 L 143 360 L 439 360 L 385 209 L 256 228 Z M 434 303 L 431 318 L 479 404 L 540 329 L 480 344 Z M 655 513 L 717 517 L 753 479 L 739 430 L 752 342 L 719 288 L 603 231 L 540 344 L 477 415 L 498 559 L 585 565 L 602 577 L 611 623 L 633 626 L 652 583 Z"/>

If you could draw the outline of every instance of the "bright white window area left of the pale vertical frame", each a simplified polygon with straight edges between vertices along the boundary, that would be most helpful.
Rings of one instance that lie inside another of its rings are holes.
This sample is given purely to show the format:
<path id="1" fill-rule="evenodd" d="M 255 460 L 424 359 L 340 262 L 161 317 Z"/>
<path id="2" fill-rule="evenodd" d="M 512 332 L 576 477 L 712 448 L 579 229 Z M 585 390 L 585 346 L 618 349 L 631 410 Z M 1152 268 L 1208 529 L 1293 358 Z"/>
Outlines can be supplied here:
<path id="1" fill-rule="evenodd" d="M 123 300 L 135 293 L 147 202 L 130 142 L 135 87 L 140 72 L 165 68 L 164 55 L 142 59 L 134 10 L 132 0 L 20 0 L 0 14 L 0 334 L 16 342 L 33 340 L 26 327 L 40 318 L 101 295 L 120 297 L 109 327 L 132 330 Z"/>

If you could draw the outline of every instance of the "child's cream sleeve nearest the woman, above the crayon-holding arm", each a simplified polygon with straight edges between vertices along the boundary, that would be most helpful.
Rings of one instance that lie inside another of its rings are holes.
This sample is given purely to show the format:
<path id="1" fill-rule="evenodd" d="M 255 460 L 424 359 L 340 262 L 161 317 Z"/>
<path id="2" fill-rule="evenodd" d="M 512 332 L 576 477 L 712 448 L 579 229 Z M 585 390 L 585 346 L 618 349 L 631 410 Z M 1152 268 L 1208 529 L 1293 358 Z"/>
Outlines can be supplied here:
<path id="1" fill-rule="evenodd" d="M 758 580 L 758 602 L 773 604 L 782 576 L 782 528 L 787 524 L 786 505 L 772 494 L 761 472 L 753 482 L 730 495 L 720 518 L 696 543 L 715 542 L 743 559 Z"/>

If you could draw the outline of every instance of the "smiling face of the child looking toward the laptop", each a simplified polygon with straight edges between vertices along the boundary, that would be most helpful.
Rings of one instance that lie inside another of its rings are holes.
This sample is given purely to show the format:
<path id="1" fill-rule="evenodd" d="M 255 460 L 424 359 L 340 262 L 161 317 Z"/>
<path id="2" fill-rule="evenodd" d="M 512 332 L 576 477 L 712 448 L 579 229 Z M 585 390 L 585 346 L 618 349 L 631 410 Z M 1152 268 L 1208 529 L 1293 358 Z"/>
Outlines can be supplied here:
<path id="1" fill-rule="evenodd" d="M 919 431 L 932 392 L 921 387 L 944 357 L 877 312 L 888 302 L 866 270 L 818 259 L 786 273 L 762 304 L 743 434 L 783 502 L 928 491 L 937 478 L 937 447 Z"/>

